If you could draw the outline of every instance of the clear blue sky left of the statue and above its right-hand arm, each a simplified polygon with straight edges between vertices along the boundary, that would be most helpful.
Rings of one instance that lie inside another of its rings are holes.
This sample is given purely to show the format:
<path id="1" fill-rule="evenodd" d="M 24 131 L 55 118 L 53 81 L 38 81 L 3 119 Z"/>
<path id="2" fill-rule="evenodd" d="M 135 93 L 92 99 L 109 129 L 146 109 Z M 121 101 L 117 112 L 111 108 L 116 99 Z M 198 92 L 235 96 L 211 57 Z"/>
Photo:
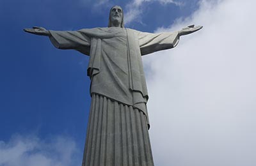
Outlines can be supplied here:
<path id="1" fill-rule="evenodd" d="M 83 151 L 90 108 L 88 57 L 74 50 L 57 50 L 47 37 L 24 33 L 22 29 L 106 27 L 111 6 L 118 4 L 125 10 L 129 3 L 131 1 L 107 1 L 101 5 L 86 0 L 0 2 L 0 140 L 8 142 L 13 134 L 35 134 L 40 139 L 68 135 Z M 191 4 L 196 7 L 196 1 Z M 195 8 L 155 1 L 145 3 L 140 10 L 143 15 L 125 26 L 153 32 L 159 26 L 169 26 L 177 17 L 189 15 Z"/>

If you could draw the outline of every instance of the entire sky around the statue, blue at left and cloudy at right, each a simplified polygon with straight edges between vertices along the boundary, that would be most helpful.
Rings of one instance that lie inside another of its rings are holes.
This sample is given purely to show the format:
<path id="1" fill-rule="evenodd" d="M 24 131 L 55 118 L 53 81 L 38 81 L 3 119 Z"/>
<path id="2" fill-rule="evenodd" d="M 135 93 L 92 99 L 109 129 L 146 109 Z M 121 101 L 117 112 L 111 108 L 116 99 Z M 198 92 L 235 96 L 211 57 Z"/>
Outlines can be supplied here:
<path id="1" fill-rule="evenodd" d="M 29 156 L 34 153 L 40 156 L 42 165 L 80 165 L 90 109 L 88 57 L 74 50 L 58 50 L 49 38 L 22 29 L 42 26 L 75 31 L 106 27 L 109 8 L 114 4 L 124 8 L 124 17 L 128 18 L 125 26 L 140 31 L 204 26 L 202 32 L 182 38 L 177 49 L 143 59 L 156 165 L 198 166 L 199 161 L 202 165 L 211 165 L 209 161 L 215 161 L 213 165 L 255 165 L 250 157 L 255 153 L 252 147 L 256 147 L 251 140 L 256 138 L 252 119 L 256 116 L 256 59 L 251 44 L 255 34 L 247 28 L 255 26 L 255 18 L 249 14 L 253 1 L 230 2 L 0 1 L 0 156 L 12 155 L 11 149 L 19 149 L 20 144 L 26 147 L 19 157 L 11 158 L 13 162 L 6 157 L 0 165 L 15 166 L 19 161 L 23 161 L 20 165 L 33 165 L 24 161 L 36 160 Z M 252 36 L 244 36 L 244 32 Z M 170 105 L 162 108 L 163 102 Z M 166 118 L 157 119 L 159 114 Z M 239 141 L 241 144 L 236 144 Z M 235 146 L 238 152 L 233 154 Z M 70 161 L 64 159 L 65 155 Z M 232 159 L 236 155 L 241 160 Z M 172 162 L 167 163 L 170 157 Z"/>

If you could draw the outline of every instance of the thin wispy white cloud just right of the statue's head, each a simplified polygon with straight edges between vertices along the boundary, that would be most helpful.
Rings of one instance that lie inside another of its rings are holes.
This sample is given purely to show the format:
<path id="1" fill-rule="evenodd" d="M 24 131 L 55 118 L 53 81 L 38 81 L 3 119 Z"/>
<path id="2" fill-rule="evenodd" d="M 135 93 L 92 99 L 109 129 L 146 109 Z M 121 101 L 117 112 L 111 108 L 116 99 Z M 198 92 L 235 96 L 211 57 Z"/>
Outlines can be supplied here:
<path id="1" fill-rule="evenodd" d="M 173 0 L 133 0 L 131 3 L 127 4 L 127 6 L 125 6 L 127 12 L 125 13 L 125 24 L 129 24 L 130 22 L 136 20 L 136 19 L 140 19 L 139 16 L 141 13 L 143 13 L 143 8 L 141 8 L 141 6 L 143 6 L 143 4 L 148 3 L 148 2 L 152 2 L 152 1 L 157 1 L 161 4 L 175 4 L 177 6 L 181 5 L 182 3 L 179 3 L 177 1 L 173 1 Z"/>

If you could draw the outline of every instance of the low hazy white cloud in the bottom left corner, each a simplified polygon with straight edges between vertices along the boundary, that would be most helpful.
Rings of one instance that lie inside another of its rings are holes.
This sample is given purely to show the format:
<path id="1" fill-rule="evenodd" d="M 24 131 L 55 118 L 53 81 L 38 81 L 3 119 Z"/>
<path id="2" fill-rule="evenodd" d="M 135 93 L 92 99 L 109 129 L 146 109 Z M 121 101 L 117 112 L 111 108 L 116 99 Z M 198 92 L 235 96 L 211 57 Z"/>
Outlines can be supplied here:
<path id="1" fill-rule="evenodd" d="M 82 161 L 77 153 L 76 143 L 68 137 L 47 141 L 15 135 L 9 142 L 0 141 L 1 166 L 78 166 Z"/>

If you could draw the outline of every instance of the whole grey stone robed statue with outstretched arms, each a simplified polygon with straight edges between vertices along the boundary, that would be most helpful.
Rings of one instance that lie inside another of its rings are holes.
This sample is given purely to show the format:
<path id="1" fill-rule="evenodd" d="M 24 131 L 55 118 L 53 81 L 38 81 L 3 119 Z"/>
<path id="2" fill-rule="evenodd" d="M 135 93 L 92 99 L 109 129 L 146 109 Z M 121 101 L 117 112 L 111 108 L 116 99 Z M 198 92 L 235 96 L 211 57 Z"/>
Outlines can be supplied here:
<path id="1" fill-rule="evenodd" d="M 179 37 L 202 26 L 173 33 L 144 33 L 124 27 L 120 6 L 109 12 L 108 27 L 79 31 L 24 29 L 49 36 L 58 49 L 74 49 L 90 56 L 92 103 L 83 166 L 153 166 L 148 136 L 147 86 L 141 56 L 172 49 Z"/>

